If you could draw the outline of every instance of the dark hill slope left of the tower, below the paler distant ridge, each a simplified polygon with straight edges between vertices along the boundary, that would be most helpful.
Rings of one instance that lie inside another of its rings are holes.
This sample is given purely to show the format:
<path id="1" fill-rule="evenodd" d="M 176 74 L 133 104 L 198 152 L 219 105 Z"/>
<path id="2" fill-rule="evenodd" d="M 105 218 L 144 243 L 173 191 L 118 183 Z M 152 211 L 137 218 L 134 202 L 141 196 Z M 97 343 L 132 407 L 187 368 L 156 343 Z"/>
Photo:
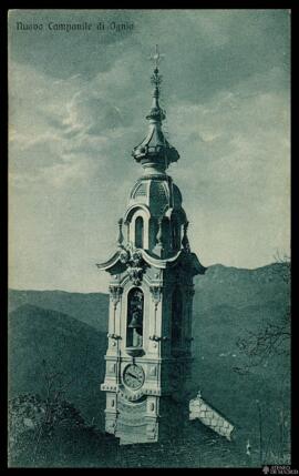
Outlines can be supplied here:
<path id="1" fill-rule="evenodd" d="M 103 427 L 106 334 L 55 311 L 24 304 L 9 314 L 9 393 L 45 393 L 44 366 L 63 372 L 66 396 Z M 59 383 L 58 379 L 54 381 Z"/>

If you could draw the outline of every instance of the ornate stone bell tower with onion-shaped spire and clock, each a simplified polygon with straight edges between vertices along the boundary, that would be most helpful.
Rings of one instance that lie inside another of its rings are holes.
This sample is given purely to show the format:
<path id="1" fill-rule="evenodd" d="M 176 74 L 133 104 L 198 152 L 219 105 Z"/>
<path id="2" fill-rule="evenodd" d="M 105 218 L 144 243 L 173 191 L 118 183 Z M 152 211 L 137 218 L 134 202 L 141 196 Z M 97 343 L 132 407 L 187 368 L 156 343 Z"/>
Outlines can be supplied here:
<path id="1" fill-rule="evenodd" d="M 187 418 L 193 277 L 205 272 L 190 251 L 182 194 L 166 173 L 179 155 L 162 131 L 157 48 L 153 59 L 150 130 L 132 152 L 143 172 L 118 221 L 117 250 L 97 264 L 111 275 L 105 431 L 121 444 L 163 440 Z"/>

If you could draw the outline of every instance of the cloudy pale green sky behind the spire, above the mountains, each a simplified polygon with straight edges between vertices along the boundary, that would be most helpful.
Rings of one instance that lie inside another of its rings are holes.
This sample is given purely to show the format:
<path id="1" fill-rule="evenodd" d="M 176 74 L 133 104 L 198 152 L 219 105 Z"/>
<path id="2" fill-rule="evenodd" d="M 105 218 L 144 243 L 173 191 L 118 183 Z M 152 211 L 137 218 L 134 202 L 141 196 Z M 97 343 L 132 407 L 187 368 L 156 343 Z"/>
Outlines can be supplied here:
<path id="1" fill-rule="evenodd" d="M 91 30 L 59 29 L 82 22 Z M 247 269 L 289 254 L 287 9 L 13 10 L 10 287 L 107 290 L 95 263 L 114 253 L 142 173 L 131 152 L 147 132 L 156 43 L 192 250 L 204 266 Z"/>

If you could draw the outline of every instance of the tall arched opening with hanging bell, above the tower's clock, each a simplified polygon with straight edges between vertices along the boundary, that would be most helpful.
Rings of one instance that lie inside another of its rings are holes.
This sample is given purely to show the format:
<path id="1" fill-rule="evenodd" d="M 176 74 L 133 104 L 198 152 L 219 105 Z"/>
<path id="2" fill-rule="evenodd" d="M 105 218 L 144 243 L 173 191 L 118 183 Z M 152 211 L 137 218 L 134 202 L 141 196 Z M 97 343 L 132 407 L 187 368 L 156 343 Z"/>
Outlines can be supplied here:
<path id="1" fill-rule="evenodd" d="M 144 295 L 140 287 L 133 287 L 127 295 L 126 346 L 143 346 Z"/>

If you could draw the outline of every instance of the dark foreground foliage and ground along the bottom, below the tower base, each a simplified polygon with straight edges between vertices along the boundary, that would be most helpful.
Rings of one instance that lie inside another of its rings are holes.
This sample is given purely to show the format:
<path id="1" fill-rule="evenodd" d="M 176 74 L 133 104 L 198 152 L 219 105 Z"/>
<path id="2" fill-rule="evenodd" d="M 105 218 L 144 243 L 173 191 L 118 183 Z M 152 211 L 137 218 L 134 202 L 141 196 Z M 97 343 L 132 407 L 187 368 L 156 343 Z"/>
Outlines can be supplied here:
<path id="1" fill-rule="evenodd" d="M 259 453 L 218 437 L 199 422 L 186 422 L 166 443 L 120 446 L 86 425 L 66 401 L 21 395 L 9 403 L 10 467 L 259 467 Z M 269 455 L 288 464 L 289 455 Z M 270 464 L 270 460 L 267 460 Z"/>

